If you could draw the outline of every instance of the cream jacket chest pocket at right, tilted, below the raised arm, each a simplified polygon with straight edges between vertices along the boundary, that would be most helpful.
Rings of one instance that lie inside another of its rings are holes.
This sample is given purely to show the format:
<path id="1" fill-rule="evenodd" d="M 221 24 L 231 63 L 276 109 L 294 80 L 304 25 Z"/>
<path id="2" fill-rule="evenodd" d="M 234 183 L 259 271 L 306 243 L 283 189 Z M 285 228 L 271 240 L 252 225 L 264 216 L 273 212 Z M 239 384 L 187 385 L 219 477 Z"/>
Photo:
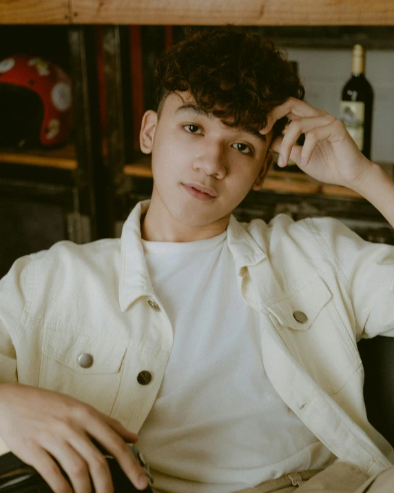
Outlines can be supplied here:
<path id="1" fill-rule="evenodd" d="M 302 368 L 327 393 L 339 392 L 361 359 L 326 283 L 318 277 L 267 310 Z"/>

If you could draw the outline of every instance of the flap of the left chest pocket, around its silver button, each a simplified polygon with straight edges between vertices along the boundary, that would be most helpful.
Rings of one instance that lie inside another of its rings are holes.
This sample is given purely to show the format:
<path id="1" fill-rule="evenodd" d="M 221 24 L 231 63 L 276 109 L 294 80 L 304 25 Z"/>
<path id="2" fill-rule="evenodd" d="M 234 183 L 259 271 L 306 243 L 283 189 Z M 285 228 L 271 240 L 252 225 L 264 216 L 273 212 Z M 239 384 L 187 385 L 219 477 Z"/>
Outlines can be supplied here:
<path id="1" fill-rule="evenodd" d="M 101 334 L 100 334 L 101 335 Z M 125 356 L 127 343 L 97 334 L 81 334 L 81 330 L 69 328 L 47 328 L 42 351 L 76 372 L 117 373 Z M 93 356 L 90 368 L 82 368 L 78 362 L 81 354 Z"/>

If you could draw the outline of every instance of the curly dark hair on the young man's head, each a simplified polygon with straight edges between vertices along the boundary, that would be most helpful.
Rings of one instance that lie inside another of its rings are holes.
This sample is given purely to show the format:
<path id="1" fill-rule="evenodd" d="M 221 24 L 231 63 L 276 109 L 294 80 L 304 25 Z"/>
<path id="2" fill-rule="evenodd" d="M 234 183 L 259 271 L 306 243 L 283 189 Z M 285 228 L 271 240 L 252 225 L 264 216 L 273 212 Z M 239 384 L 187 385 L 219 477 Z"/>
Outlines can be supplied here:
<path id="1" fill-rule="evenodd" d="M 260 130 L 287 98 L 304 99 L 304 87 L 287 54 L 262 34 L 226 24 L 188 28 L 183 41 L 156 61 L 155 99 L 160 118 L 171 92 L 189 91 L 203 110 L 229 127 Z M 287 123 L 273 128 L 279 135 Z"/>

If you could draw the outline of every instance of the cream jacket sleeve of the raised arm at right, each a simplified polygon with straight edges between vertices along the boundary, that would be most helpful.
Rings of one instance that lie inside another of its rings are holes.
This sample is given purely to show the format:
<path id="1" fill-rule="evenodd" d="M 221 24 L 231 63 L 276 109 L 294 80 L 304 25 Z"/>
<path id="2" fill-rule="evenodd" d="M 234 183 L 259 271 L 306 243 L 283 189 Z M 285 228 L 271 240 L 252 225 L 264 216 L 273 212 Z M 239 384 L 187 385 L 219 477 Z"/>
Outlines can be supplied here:
<path id="1" fill-rule="evenodd" d="M 357 339 L 394 337 L 394 246 L 365 241 L 337 219 L 311 223 L 347 285 Z"/>

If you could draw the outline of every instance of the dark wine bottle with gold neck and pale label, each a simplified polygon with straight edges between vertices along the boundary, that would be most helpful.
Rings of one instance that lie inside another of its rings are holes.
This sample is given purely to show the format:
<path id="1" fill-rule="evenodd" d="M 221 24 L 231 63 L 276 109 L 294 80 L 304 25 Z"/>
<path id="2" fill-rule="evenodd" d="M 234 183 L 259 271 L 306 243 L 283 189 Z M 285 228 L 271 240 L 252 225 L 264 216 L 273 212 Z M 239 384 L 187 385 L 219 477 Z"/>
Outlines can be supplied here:
<path id="1" fill-rule="evenodd" d="M 373 89 L 364 74 L 365 52 L 353 46 L 351 78 L 342 89 L 340 119 L 362 154 L 371 157 Z"/>

